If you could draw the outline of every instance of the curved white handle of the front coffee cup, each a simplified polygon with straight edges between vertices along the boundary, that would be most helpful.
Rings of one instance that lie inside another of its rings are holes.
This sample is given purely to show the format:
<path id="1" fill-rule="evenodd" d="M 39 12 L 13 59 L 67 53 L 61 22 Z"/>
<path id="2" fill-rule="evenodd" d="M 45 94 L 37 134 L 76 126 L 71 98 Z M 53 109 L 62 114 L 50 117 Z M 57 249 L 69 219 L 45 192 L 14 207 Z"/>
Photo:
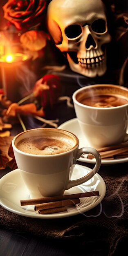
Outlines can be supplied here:
<path id="1" fill-rule="evenodd" d="M 101 155 L 94 148 L 89 148 L 89 147 L 87 147 L 87 148 L 85 148 L 85 147 L 84 148 L 80 148 L 78 150 L 76 160 L 78 160 L 83 154 L 88 154 L 88 153 L 92 154 L 95 157 L 96 164 L 95 164 L 94 168 L 92 169 L 92 171 L 90 171 L 84 177 L 81 177 L 81 178 L 79 178 L 77 180 L 70 180 L 69 183 L 67 184 L 67 188 L 66 189 L 70 189 L 73 186 L 77 186 L 77 185 L 80 185 L 80 184 L 82 184 L 84 182 L 87 182 L 88 180 L 90 180 L 99 171 L 99 168 L 101 166 Z"/>

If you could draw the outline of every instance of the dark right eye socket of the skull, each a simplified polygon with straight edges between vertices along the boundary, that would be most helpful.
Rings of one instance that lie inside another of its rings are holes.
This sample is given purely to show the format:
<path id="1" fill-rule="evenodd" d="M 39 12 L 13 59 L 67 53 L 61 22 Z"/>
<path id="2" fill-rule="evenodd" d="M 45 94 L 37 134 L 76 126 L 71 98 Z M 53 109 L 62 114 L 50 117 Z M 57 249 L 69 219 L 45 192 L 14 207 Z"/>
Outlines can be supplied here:
<path id="1" fill-rule="evenodd" d="M 103 34 L 106 32 L 106 21 L 103 19 L 95 20 L 91 28 L 95 33 Z"/>

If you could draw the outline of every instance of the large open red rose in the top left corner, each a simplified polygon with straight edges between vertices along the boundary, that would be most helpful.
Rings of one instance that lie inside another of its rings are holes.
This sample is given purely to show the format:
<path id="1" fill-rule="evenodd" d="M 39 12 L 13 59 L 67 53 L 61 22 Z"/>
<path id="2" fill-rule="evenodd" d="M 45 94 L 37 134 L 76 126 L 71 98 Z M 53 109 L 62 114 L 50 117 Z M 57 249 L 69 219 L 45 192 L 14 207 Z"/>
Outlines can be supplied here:
<path id="1" fill-rule="evenodd" d="M 43 20 L 46 0 L 8 0 L 2 7 L 4 18 L 18 30 L 38 27 Z"/>

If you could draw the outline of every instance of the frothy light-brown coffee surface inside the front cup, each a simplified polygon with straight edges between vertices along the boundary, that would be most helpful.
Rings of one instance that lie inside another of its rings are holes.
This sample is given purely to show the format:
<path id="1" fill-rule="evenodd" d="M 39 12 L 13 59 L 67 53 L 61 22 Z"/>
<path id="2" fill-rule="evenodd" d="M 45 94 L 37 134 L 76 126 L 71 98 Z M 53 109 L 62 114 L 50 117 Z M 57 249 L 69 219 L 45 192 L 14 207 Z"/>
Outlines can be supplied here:
<path id="1" fill-rule="evenodd" d="M 18 142 L 17 148 L 23 152 L 34 155 L 54 155 L 70 150 L 75 141 L 68 137 L 27 137 Z"/>

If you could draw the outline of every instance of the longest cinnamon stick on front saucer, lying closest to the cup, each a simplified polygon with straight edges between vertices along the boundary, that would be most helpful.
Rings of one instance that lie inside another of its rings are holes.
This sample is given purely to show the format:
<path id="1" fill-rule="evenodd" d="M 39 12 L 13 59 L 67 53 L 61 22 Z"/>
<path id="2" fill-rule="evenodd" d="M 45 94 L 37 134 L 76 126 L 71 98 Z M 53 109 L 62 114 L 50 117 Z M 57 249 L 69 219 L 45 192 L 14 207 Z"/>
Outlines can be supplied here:
<path id="1" fill-rule="evenodd" d="M 85 198 L 90 196 L 96 196 L 99 195 L 99 191 L 89 191 L 89 192 L 83 192 L 83 193 L 76 193 L 71 195 L 57 195 L 52 197 L 43 197 L 43 198 L 35 198 L 35 199 L 26 199 L 26 200 L 20 200 L 20 205 L 33 205 L 33 204 L 42 204 L 47 202 L 55 202 L 60 200 L 66 200 L 66 199 L 75 199 L 75 198 Z"/>

